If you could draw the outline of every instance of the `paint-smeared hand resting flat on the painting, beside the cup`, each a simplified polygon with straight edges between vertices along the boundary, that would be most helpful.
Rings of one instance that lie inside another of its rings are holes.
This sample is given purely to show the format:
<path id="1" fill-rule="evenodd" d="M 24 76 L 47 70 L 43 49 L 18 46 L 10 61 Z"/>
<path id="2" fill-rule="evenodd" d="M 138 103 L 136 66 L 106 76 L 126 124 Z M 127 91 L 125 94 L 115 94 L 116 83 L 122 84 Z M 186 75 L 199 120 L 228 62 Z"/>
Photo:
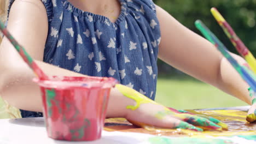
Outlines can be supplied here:
<path id="1" fill-rule="evenodd" d="M 204 118 L 168 109 L 134 89 L 123 85 L 117 85 L 116 88 L 125 97 L 136 101 L 136 105 L 128 105 L 126 107 L 128 109 L 126 119 L 139 127 L 181 128 L 196 131 L 203 131 L 203 129 L 226 129 L 226 125 L 220 123 L 217 119 Z"/>

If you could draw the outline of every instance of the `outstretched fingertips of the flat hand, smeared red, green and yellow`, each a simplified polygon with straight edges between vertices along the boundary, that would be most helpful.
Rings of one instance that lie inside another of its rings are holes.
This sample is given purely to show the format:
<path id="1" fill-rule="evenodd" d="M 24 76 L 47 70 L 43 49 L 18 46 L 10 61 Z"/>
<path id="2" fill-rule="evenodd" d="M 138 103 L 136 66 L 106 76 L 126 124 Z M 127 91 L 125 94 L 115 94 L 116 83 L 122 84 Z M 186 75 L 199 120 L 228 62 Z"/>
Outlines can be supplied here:
<path id="1" fill-rule="evenodd" d="M 189 115 L 189 114 L 178 114 L 174 115 L 175 117 L 182 119 L 184 122 L 188 122 L 189 124 L 193 124 L 196 127 L 200 127 L 202 129 L 208 129 L 208 130 L 223 130 L 223 128 L 220 125 L 217 125 L 216 123 L 210 121 L 207 118 L 195 116 L 195 115 Z"/>

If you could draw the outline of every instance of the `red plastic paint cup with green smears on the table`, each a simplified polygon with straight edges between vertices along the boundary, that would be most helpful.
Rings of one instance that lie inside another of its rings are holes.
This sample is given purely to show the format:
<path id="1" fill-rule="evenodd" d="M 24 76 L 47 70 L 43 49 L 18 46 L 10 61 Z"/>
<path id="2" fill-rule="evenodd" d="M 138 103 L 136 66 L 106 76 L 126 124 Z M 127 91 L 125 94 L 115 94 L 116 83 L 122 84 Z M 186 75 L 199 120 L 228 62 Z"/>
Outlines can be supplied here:
<path id="1" fill-rule="evenodd" d="M 55 140 L 100 139 L 110 89 L 117 80 L 107 77 L 34 79 L 40 86 L 48 136 Z"/>

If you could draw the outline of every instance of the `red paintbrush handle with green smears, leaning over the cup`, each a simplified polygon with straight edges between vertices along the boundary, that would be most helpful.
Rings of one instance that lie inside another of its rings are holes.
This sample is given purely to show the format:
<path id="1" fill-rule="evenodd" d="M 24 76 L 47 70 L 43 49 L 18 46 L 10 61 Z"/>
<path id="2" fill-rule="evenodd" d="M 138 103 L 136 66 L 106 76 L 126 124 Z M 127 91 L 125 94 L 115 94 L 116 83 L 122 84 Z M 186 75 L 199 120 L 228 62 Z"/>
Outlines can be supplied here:
<path id="1" fill-rule="evenodd" d="M 0 31 L 3 35 L 10 41 L 10 43 L 15 47 L 18 51 L 22 59 L 28 64 L 28 66 L 34 71 L 34 74 L 39 77 L 41 80 L 48 80 L 48 76 L 43 73 L 43 71 L 38 67 L 36 62 L 34 62 L 33 58 L 28 55 L 24 47 L 22 47 L 14 37 L 8 32 L 7 28 L 5 28 L 4 23 L 0 20 Z"/>

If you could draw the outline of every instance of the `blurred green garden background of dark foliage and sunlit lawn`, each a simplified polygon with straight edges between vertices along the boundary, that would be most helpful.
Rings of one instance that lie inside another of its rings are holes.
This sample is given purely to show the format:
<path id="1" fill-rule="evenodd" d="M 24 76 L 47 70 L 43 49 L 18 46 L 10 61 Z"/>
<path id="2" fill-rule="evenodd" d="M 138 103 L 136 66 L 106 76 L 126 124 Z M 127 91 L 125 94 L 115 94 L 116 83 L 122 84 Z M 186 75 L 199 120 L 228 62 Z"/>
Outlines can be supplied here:
<path id="1" fill-rule="evenodd" d="M 154 0 L 184 26 L 201 35 L 194 26 L 202 20 L 231 52 L 237 53 L 210 13 L 216 7 L 234 28 L 249 50 L 256 55 L 256 0 Z M 237 53 L 238 54 L 238 53 Z M 197 81 L 164 62 L 158 61 L 156 101 L 176 109 L 200 109 L 247 105 L 210 85 Z"/>

